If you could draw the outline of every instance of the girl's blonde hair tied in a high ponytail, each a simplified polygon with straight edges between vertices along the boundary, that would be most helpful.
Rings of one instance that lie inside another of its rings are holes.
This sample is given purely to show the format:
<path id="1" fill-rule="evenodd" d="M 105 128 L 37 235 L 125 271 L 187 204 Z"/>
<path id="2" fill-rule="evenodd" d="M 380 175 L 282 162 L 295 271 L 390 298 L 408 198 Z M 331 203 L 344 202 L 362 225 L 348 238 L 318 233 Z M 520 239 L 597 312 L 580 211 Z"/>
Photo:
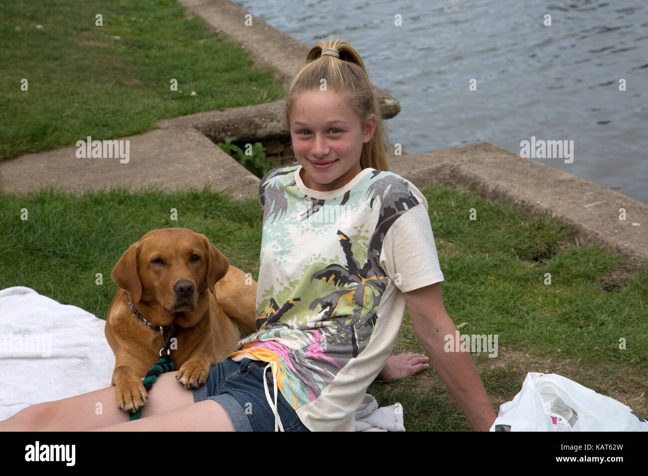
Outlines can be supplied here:
<path id="1" fill-rule="evenodd" d="M 332 51 L 331 51 L 332 50 Z M 322 54 L 325 51 L 325 54 Z M 334 56 L 338 52 L 339 58 Z M 332 54 L 331 54 L 332 53 Z M 369 115 L 376 115 L 376 130 L 369 142 L 362 144 L 360 168 L 389 170 L 385 154 L 385 129 L 380 115 L 378 102 L 373 95 L 369 74 L 360 58 L 360 54 L 347 42 L 334 36 L 321 40 L 312 47 L 306 56 L 306 62 L 295 73 L 288 84 L 286 96 L 277 122 L 284 133 L 290 133 L 290 111 L 302 93 L 319 89 L 321 80 L 326 80 L 327 89 L 332 89 L 345 96 L 346 104 L 360 116 L 364 129 Z"/>

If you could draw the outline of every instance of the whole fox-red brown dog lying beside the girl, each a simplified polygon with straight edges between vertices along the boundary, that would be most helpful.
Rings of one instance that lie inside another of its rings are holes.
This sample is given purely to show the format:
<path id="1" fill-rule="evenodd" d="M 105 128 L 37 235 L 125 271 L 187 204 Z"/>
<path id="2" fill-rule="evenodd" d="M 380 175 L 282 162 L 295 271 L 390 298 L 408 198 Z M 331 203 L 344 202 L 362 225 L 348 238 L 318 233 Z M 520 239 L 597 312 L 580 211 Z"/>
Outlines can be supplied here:
<path id="1" fill-rule="evenodd" d="M 146 403 L 141 379 L 164 346 L 160 326 L 181 328 L 177 341 L 170 341 L 170 357 L 186 389 L 203 385 L 214 363 L 255 331 L 257 283 L 230 266 L 202 234 L 185 228 L 149 231 L 124 252 L 111 276 L 121 289 L 108 310 L 106 339 L 115 354 L 111 384 L 122 410 Z M 137 317 L 128 300 L 154 328 Z"/>

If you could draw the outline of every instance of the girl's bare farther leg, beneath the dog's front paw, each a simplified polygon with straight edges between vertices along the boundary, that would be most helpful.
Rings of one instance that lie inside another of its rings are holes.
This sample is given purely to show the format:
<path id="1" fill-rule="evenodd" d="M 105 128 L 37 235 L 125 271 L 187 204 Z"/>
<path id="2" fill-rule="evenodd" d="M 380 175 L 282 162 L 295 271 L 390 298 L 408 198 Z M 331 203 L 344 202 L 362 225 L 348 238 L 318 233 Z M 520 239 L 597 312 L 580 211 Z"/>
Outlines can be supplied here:
<path id="1" fill-rule="evenodd" d="M 193 391 L 186 390 L 178 383 L 177 373 L 168 372 L 157 378 L 151 391 L 148 392 L 148 400 L 142 409 L 140 422 L 148 420 L 147 416 L 194 405 Z M 222 409 L 217 402 L 213 402 L 213 405 Z M 227 413 L 225 414 L 227 416 Z M 128 418 L 130 413 L 117 407 L 115 387 L 111 386 L 55 402 L 27 407 L 8 420 L 1 421 L 0 431 L 86 431 L 128 422 Z"/>

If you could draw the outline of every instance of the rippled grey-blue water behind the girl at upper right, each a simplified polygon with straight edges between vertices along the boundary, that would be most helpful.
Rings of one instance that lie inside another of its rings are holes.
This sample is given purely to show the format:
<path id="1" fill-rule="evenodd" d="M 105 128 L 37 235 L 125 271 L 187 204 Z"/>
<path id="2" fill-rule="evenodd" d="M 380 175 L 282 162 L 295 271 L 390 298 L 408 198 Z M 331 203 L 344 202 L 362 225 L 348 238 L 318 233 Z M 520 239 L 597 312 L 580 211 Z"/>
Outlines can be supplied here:
<path id="1" fill-rule="evenodd" d="M 408 153 L 480 141 L 520 153 L 531 136 L 573 140 L 572 163 L 537 160 L 648 203 L 643 0 L 236 3 L 309 46 L 347 38 L 373 84 L 399 100 L 386 125 Z"/>

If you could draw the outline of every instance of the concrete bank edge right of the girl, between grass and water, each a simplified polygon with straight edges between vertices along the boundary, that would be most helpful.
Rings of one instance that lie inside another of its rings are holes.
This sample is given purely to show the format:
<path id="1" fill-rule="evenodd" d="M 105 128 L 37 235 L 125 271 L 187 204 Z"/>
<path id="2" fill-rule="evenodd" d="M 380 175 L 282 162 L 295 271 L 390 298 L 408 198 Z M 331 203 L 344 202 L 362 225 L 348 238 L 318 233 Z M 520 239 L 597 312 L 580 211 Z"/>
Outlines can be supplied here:
<path id="1" fill-rule="evenodd" d="M 503 198 L 529 213 L 566 218 L 579 242 L 627 256 L 648 270 L 648 205 L 487 142 L 390 157 L 389 169 L 417 185 L 464 185 L 487 198 Z M 434 209 L 434 203 L 430 204 Z M 619 209 L 626 220 L 619 220 Z M 465 210 L 468 212 L 468 210 Z M 632 223 L 640 223 L 634 226 Z"/>

